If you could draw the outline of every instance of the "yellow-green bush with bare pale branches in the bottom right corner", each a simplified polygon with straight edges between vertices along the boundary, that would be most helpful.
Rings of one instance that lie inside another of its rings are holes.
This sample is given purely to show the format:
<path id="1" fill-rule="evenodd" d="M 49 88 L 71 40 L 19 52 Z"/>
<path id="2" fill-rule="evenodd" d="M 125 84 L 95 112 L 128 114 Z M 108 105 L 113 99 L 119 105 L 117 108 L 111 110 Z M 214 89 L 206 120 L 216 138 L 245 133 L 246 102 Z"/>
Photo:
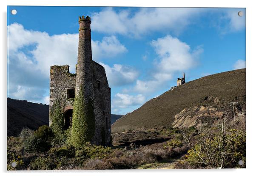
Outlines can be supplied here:
<path id="1" fill-rule="evenodd" d="M 239 160 L 245 162 L 245 132 L 234 129 L 203 130 L 196 136 L 196 143 L 189 140 L 187 159 L 190 168 L 244 168 Z"/>

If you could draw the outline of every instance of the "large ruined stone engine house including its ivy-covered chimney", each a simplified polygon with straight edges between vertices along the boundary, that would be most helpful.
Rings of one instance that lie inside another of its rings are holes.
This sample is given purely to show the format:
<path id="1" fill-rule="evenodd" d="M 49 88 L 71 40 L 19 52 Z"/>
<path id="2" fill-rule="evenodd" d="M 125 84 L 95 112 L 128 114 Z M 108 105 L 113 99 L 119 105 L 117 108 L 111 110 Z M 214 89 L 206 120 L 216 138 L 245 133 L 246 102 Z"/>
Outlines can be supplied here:
<path id="1" fill-rule="evenodd" d="M 104 67 L 92 60 L 90 26 L 89 16 L 79 17 L 76 73 L 71 74 L 68 65 L 51 66 L 49 124 L 61 127 L 60 133 L 71 128 L 74 145 L 110 145 L 111 88 Z M 54 114 L 57 107 L 62 117 Z"/>

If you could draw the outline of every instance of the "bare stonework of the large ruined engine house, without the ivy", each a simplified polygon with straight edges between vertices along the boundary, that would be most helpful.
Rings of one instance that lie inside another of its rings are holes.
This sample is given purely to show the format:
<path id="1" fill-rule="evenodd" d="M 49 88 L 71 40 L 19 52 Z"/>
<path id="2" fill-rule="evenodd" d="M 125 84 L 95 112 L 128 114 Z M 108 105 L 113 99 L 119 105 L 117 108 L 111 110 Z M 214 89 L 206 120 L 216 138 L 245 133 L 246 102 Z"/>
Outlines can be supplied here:
<path id="1" fill-rule="evenodd" d="M 78 92 L 84 93 L 85 102 L 92 100 L 95 114 L 95 132 L 91 143 L 95 145 L 111 144 L 111 88 L 105 69 L 92 60 L 91 54 L 91 18 L 79 17 L 79 44 L 76 73 L 69 72 L 69 66 L 51 66 L 50 70 L 50 120 L 54 103 L 63 110 L 63 129 L 72 126 L 74 99 Z M 90 128 L 90 126 L 89 126 Z"/>

